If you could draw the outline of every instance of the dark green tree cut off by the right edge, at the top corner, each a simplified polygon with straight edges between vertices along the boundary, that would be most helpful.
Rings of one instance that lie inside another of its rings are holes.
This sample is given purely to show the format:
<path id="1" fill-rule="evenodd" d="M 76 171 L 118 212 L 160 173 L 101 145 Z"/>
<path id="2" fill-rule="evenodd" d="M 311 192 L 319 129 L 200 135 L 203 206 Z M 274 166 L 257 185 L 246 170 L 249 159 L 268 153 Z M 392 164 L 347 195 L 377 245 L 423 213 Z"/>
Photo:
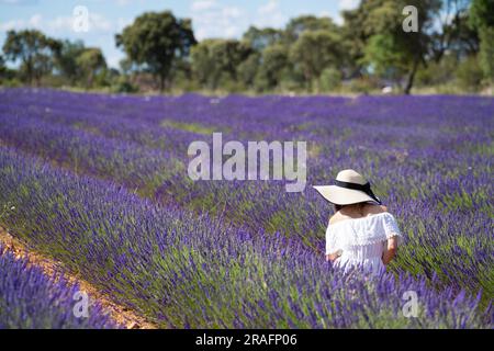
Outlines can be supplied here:
<path id="1" fill-rule="evenodd" d="M 470 24 L 479 31 L 479 56 L 484 77 L 494 83 L 494 2 L 473 0 L 470 8 Z"/>

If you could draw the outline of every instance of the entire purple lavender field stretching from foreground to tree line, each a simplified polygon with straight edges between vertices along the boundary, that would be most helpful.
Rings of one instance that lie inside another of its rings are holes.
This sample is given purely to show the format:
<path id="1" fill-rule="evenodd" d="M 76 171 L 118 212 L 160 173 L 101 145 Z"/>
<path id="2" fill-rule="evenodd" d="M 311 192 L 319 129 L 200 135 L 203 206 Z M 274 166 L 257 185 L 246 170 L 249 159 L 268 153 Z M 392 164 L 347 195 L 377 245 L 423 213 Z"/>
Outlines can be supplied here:
<path id="1" fill-rule="evenodd" d="M 188 146 L 214 132 L 307 141 L 305 190 L 191 181 Z M 0 226 L 160 328 L 492 328 L 493 139 L 492 98 L 4 89 Z M 346 168 L 405 239 L 375 279 L 324 260 L 333 208 L 312 185 Z M 0 327 L 117 327 L 74 320 L 74 288 L 3 253 Z"/>

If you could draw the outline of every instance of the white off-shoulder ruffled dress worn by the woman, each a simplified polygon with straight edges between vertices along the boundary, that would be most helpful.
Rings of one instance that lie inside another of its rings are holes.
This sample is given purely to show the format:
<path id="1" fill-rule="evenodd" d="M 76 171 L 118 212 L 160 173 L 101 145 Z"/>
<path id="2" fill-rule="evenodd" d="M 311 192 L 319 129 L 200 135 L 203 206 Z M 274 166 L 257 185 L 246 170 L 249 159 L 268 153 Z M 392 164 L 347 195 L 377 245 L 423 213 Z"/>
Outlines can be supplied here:
<path id="1" fill-rule="evenodd" d="M 361 218 L 330 224 L 326 230 L 326 254 L 340 251 L 335 267 L 348 271 L 360 267 L 377 274 L 384 269 L 382 254 L 386 240 L 401 237 L 393 215 L 383 212 Z"/>

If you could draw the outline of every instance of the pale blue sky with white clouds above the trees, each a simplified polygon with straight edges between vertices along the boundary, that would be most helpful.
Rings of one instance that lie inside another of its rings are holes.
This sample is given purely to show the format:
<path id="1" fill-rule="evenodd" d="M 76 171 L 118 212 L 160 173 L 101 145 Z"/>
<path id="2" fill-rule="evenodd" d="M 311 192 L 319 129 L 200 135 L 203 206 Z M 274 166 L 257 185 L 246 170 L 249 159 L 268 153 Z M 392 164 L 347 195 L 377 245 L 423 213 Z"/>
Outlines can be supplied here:
<path id="1" fill-rule="evenodd" d="M 327 15 L 340 23 L 340 11 L 359 0 L 0 0 L 0 43 L 9 30 L 37 29 L 55 38 L 82 39 L 101 47 L 108 64 L 124 57 L 114 35 L 146 11 L 171 10 L 192 19 L 195 37 L 239 38 L 250 26 L 283 27 L 301 14 Z M 87 18 L 88 21 L 83 22 Z M 88 25 L 85 25 L 88 23 Z"/>

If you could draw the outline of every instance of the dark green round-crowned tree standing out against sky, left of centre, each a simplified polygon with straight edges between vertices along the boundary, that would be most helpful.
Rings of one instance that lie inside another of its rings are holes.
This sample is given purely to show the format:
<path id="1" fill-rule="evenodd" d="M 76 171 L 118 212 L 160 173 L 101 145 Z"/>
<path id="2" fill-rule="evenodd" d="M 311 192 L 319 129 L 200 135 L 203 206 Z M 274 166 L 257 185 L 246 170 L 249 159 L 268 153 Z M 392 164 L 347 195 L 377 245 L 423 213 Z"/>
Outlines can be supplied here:
<path id="1" fill-rule="evenodd" d="M 175 60 L 187 57 L 195 45 L 189 19 L 176 19 L 170 11 L 146 12 L 115 36 L 128 58 L 158 79 L 159 90 L 169 86 Z"/>

